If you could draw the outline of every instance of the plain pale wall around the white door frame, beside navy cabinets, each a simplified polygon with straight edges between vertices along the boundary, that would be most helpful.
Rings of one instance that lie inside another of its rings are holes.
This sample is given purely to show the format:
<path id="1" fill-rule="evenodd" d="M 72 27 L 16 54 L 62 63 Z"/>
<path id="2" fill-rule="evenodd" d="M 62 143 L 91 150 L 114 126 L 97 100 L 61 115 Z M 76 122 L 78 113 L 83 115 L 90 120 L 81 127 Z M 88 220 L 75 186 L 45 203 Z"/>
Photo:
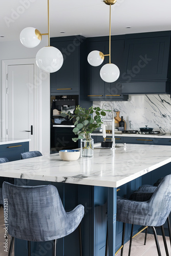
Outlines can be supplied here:
<path id="1" fill-rule="evenodd" d="M 2 137 L 2 60 L 5 59 L 20 59 L 20 58 L 35 58 L 38 50 L 48 45 L 48 39 L 42 37 L 42 41 L 39 46 L 35 48 L 24 47 L 19 39 L 18 41 L 0 42 L 0 137 Z M 39 132 L 41 134 L 40 150 L 43 155 L 50 152 L 50 79 L 49 74 L 46 73 L 43 79 L 38 83 L 40 85 L 41 103 L 39 113 L 41 115 L 41 124 L 39 126 Z M 18 92 L 19 93 L 19 92 Z"/>

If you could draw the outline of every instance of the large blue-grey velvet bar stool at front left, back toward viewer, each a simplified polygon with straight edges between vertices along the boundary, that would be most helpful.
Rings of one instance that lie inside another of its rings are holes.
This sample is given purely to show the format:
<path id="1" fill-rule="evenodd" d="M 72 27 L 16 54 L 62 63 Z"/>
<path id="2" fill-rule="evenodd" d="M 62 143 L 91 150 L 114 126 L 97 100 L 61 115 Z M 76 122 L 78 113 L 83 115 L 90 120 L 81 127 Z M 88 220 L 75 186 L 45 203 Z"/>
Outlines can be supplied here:
<path id="1" fill-rule="evenodd" d="M 84 207 L 76 206 L 66 212 L 58 190 L 53 185 L 16 186 L 3 183 L 3 198 L 8 200 L 8 233 L 11 236 L 8 256 L 11 256 L 14 238 L 28 241 L 28 255 L 31 256 L 30 241 L 53 241 L 53 256 L 56 255 L 56 239 L 68 236 L 79 226 Z M 5 202 L 5 201 L 4 201 Z"/>

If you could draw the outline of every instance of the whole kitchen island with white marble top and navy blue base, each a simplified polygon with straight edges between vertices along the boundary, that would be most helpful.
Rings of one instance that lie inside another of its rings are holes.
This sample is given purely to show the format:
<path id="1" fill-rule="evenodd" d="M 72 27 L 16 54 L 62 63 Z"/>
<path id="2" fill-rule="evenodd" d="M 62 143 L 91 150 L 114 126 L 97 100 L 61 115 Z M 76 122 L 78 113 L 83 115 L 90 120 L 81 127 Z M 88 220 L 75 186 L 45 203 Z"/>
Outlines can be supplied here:
<path id="1" fill-rule="evenodd" d="M 130 189 L 135 190 L 141 185 L 137 183 L 137 178 L 140 179 L 139 177 L 147 173 L 149 175 L 152 171 L 158 172 L 159 167 L 164 168 L 170 162 L 170 146 L 126 144 L 126 148 L 119 146 L 115 150 L 94 148 L 94 157 L 79 158 L 71 162 L 62 161 L 57 153 L 2 163 L 0 164 L 0 176 L 19 178 L 16 179 L 16 184 L 19 185 L 22 185 L 22 181 L 28 182 L 24 183 L 27 185 L 47 184 L 45 181 L 54 182 L 52 184 L 59 189 L 66 209 L 67 207 L 73 209 L 76 205 L 82 204 L 85 207 L 85 215 L 81 221 L 84 234 L 83 255 L 104 255 L 107 211 L 109 256 L 114 256 L 121 243 L 121 231 L 116 225 L 117 187 L 123 185 L 129 188 L 120 187 L 119 192 L 122 194 L 125 194 L 125 191 L 131 191 Z M 167 166 L 166 170 L 170 173 L 170 167 Z M 162 175 L 163 172 L 161 177 Z M 40 181 L 43 182 L 40 183 Z M 127 185 L 130 183 L 134 184 L 132 188 Z M 125 238 L 129 240 L 130 232 L 126 231 L 126 233 L 129 235 Z M 68 238 L 65 246 L 64 244 L 58 245 L 61 250 L 78 244 L 77 233 L 74 236 L 74 240 Z M 26 242 L 16 239 L 16 256 L 20 255 L 20 248 L 25 248 L 25 254 L 27 253 Z M 47 256 L 51 255 L 50 250 L 48 253 Z M 73 255 L 72 251 L 67 255 Z M 74 255 L 78 256 L 79 250 Z"/>

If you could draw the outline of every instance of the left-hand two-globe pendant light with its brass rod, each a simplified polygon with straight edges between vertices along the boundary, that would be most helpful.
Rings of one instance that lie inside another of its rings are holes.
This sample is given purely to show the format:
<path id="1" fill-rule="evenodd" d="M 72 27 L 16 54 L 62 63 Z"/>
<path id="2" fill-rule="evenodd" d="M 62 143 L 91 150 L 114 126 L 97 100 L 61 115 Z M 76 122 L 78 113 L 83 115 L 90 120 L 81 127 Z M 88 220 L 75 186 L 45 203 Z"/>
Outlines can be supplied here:
<path id="1" fill-rule="evenodd" d="M 41 34 L 37 29 L 29 27 L 22 30 L 20 33 L 20 41 L 26 47 L 32 48 L 38 46 L 42 35 L 48 35 L 49 44 L 47 47 L 41 48 L 36 54 L 36 64 L 39 69 L 53 73 L 58 71 L 63 64 L 63 56 L 61 52 L 50 46 L 49 32 L 49 0 L 48 0 L 48 33 Z"/>

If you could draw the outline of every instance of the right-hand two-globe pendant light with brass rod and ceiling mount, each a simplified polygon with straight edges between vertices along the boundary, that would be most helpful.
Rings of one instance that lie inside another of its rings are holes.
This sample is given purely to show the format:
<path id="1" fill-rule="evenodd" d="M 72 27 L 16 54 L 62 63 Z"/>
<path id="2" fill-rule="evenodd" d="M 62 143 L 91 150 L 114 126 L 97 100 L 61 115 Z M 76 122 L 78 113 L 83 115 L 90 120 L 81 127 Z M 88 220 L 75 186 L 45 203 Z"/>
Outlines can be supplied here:
<path id="1" fill-rule="evenodd" d="M 105 82 L 115 82 L 120 75 L 119 68 L 111 63 L 111 5 L 116 3 L 116 0 L 103 1 L 106 5 L 110 5 L 110 35 L 109 35 L 109 54 L 103 54 L 99 51 L 92 51 L 88 55 L 88 62 L 90 65 L 97 67 L 101 65 L 104 56 L 109 56 L 109 63 L 105 64 L 100 70 L 100 77 Z"/>

